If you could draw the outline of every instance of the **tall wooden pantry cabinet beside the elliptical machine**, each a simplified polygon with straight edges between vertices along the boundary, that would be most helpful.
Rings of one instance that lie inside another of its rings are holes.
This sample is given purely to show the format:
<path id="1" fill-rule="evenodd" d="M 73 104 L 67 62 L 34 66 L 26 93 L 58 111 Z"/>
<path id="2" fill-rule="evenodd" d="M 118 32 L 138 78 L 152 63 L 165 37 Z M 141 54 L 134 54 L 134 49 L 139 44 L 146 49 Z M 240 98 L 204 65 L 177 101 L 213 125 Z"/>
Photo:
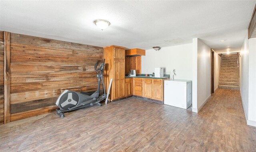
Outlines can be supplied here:
<path id="1" fill-rule="evenodd" d="M 113 79 L 109 94 L 110 101 L 125 97 L 126 84 L 124 47 L 115 45 L 104 47 L 103 56 L 105 58 L 104 82 L 106 91 L 108 91 L 110 79 Z"/>

